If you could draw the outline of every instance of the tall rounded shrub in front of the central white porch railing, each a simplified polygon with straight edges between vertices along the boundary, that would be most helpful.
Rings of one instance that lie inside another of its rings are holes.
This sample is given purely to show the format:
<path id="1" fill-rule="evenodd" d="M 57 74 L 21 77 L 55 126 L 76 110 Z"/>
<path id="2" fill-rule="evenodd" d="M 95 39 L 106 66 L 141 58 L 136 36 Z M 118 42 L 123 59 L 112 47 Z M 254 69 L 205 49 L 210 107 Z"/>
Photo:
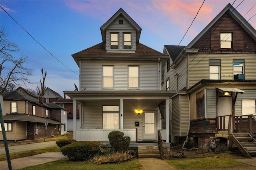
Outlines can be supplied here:
<path id="1" fill-rule="evenodd" d="M 123 132 L 113 131 L 108 134 L 110 145 L 116 150 L 116 152 L 125 152 L 128 150 L 130 144 L 130 137 L 124 136 Z"/>

